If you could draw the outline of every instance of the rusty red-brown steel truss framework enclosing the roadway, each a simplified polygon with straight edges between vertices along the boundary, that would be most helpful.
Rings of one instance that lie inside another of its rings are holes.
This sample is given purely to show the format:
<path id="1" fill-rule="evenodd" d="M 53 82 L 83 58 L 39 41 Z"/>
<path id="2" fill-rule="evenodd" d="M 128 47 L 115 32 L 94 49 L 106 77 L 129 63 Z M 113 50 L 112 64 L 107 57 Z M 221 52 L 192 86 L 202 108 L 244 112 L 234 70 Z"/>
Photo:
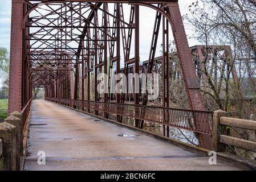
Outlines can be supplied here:
<path id="1" fill-rule="evenodd" d="M 149 61 L 145 70 L 152 73 L 156 48 L 160 46 L 157 42 L 161 40 L 164 80 L 162 108 L 169 107 L 168 45 L 169 36 L 172 35 L 190 109 L 204 111 L 200 84 L 177 0 L 12 0 L 9 113 L 21 111 L 27 106 L 33 87 L 44 88 L 47 98 L 110 102 L 111 94 L 97 93 L 97 75 L 109 73 L 111 69 L 120 73 L 121 65 L 124 65 L 125 74 L 131 68 L 134 73 L 140 73 L 142 6 L 156 11 L 155 20 L 150 20 L 155 22 L 155 26 L 151 30 L 151 49 L 148 50 Z M 115 100 L 116 104 L 124 104 L 125 95 L 116 94 Z M 147 94 L 134 94 L 133 102 L 136 106 L 147 105 Z M 90 107 L 82 109 L 92 112 Z M 104 117 L 108 118 L 109 111 L 103 111 Z M 147 114 L 146 111 L 141 112 Z M 94 114 L 98 115 L 99 110 L 94 109 Z M 118 112 L 114 114 L 118 122 L 127 116 Z M 165 120 L 171 119 L 172 112 L 162 114 Z M 135 115 L 129 117 L 134 118 L 135 126 L 141 128 L 144 120 L 150 120 Z M 212 148 L 210 130 L 201 132 L 203 128 L 210 129 L 211 124 L 197 116 L 192 120 L 194 123 L 190 123 L 191 126 L 197 127 L 187 129 L 197 132 L 201 147 Z M 172 125 L 168 124 L 170 121 L 161 123 L 166 126 L 164 131 L 168 137 L 169 126 Z"/>

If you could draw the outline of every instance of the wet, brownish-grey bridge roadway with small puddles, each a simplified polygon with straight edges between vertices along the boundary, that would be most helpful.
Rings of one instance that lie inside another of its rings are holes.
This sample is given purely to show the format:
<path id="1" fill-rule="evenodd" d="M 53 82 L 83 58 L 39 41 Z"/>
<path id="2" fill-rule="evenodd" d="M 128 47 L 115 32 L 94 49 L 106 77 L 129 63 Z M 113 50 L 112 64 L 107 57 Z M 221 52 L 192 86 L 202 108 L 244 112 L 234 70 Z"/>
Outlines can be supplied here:
<path id="1" fill-rule="evenodd" d="M 42 100 L 32 101 L 29 136 L 26 170 L 239 170 Z M 39 151 L 46 165 L 38 165 Z"/>

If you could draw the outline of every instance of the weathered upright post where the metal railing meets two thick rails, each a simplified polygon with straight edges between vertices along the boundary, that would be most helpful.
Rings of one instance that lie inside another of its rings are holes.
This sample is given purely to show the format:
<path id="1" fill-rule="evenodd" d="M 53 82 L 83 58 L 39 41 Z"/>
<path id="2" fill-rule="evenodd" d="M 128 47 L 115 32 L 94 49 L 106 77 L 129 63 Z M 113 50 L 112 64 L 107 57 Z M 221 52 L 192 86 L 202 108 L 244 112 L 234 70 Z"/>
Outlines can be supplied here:
<path id="1" fill-rule="evenodd" d="M 217 110 L 213 113 L 213 150 L 216 152 L 224 152 L 225 145 L 220 143 L 220 118 L 226 117 L 227 112 Z"/>

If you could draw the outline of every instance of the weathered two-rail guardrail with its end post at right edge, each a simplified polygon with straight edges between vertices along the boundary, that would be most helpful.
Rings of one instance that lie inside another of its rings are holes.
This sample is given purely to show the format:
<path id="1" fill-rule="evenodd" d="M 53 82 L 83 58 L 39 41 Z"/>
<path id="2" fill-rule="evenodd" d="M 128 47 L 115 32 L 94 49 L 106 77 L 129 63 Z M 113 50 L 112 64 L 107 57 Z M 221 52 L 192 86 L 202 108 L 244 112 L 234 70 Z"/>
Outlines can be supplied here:
<path id="1" fill-rule="evenodd" d="M 224 151 L 225 148 L 223 144 L 229 144 L 230 146 L 256 152 L 256 142 L 221 134 L 222 126 L 237 127 L 240 129 L 256 131 L 256 121 L 229 118 L 227 117 L 227 113 L 225 111 L 218 110 L 214 112 L 213 124 L 215 125 L 215 127 L 213 127 L 213 148 L 215 151 Z"/>

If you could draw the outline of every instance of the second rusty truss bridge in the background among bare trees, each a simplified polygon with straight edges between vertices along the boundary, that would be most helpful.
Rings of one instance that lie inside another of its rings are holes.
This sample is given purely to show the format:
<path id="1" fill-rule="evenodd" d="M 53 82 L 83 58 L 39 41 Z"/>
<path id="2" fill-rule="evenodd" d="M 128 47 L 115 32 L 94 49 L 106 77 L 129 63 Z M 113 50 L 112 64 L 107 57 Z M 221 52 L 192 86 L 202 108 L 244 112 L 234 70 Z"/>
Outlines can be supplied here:
<path id="1" fill-rule="evenodd" d="M 190 47 L 190 52 L 192 54 L 194 71 L 196 72 L 197 78 L 200 82 L 208 82 L 205 72 L 209 73 L 210 75 L 214 75 L 214 80 L 217 80 L 217 75 L 220 74 L 217 71 L 218 61 L 224 64 L 226 70 L 230 69 L 234 81 L 238 82 L 237 70 L 235 68 L 230 46 L 193 46 Z M 177 52 L 172 52 L 169 54 L 170 80 L 182 78 L 181 70 L 179 69 L 180 65 L 177 65 L 176 63 L 177 58 Z M 148 60 L 143 62 L 140 68 L 141 72 L 147 72 L 148 63 Z M 205 70 L 205 68 L 208 70 Z M 155 57 L 152 70 L 155 73 L 162 72 L 162 56 Z"/>

